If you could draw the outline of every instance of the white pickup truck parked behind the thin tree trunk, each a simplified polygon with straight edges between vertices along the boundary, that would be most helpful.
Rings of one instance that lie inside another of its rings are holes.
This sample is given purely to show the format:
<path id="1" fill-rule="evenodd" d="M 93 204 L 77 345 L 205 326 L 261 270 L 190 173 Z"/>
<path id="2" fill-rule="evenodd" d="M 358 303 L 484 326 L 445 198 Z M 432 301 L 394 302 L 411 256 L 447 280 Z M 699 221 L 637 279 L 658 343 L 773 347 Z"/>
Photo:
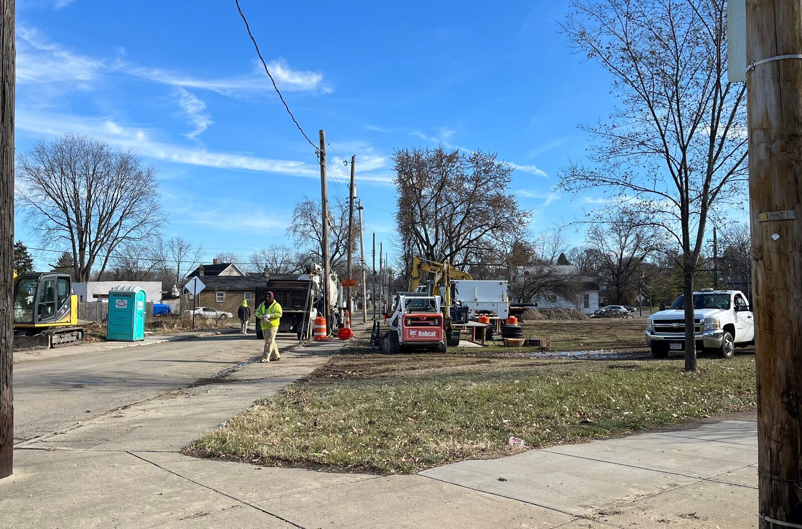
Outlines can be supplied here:
<path id="1" fill-rule="evenodd" d="M 755 319 L 739 290 L 703 289 L 694 293 L 696 347 L 731 358 L 735 347 L 755 343 Z M 685 349 L 685 297 L 646 321 L 646 345 L 655 358 Z"/>

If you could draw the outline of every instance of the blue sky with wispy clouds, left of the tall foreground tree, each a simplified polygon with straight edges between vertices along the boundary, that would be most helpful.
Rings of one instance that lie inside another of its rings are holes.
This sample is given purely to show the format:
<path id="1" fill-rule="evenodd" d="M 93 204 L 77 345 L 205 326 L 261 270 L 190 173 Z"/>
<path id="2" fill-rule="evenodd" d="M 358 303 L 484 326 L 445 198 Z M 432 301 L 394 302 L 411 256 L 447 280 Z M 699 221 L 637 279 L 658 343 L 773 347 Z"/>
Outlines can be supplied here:
<path id="1" fill-rule="evenodd" d="M 559 33 L 563 2 L 241 6 L 302 127 L 315 142 L 326 130 L 332 199 L 347 196 L 339 156 L 357 156 L 368 242 L 393 237 L 397 148 L 498 152 L 517 166 L 533 232 L 596 207 L 553 190 L 559 168 L 585 155 L 577 123 L 613 105 L 610 79 Z M 18 150 L 73 131 L 140 155 L 159 168 L 164 232 L 209 257 L 290 242 L 290 212 L 319 196 L 319 168 L 233 0 L 23 0 L 17 23 Z M 16 238 L 36 247 L 21 216 Z"/>

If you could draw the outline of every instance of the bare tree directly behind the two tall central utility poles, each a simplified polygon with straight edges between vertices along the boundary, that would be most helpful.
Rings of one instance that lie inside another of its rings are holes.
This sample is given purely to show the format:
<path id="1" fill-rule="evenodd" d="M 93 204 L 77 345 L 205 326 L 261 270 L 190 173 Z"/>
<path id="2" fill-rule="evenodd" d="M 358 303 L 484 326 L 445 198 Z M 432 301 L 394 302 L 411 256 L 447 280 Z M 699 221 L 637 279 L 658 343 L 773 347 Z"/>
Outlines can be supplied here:
<path id="1" fill-rule="evenodd" d="M 329 201 L 332 204 L 332 201 Z M 322 263 L 323 228 L 320 218 L 320 201 L 304 196 L 295 204 L 287 235 L 311 252 Z M 359 230 L 354 226 L 353 248 L 358 248 Z M 348 253 L 348 202 L 335 200 L 329 216 L 329 260 L 331 268 L 344 273 Z"/>

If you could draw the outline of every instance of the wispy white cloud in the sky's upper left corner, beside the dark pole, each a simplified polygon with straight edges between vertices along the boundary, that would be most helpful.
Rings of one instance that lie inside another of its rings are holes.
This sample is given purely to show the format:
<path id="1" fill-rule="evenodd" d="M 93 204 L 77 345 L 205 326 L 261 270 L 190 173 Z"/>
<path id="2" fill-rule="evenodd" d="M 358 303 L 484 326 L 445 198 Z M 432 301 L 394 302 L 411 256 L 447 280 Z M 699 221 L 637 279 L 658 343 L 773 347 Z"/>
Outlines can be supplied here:
<path id="1" fill-rule="evenodd" d="M 103 61 L 64 50 L 38 30 L 17 26 L 17 83 L 50 84 L 60 90 L 91 90 Z"/>

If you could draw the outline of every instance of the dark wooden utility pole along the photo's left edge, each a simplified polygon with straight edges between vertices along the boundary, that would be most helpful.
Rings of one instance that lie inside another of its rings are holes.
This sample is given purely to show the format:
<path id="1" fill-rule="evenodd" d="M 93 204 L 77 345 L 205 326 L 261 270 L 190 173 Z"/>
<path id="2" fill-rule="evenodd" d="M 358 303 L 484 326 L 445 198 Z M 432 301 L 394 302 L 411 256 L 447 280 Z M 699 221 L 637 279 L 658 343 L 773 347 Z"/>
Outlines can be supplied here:
<path id="1" fill-rule="evenodd" d="M 14 470 L 14 0 L 0 0 L 0 478 Z"/>

